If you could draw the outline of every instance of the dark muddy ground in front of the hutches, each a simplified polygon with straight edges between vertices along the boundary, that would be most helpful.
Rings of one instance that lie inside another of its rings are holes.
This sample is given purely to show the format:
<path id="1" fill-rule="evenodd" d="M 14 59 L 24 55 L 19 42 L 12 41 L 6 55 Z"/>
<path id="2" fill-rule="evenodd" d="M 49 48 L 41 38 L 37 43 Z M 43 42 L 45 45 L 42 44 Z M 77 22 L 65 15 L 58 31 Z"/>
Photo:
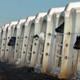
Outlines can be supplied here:
<path id="1" fill-rule="evenodd" d="M 14 66 L 0 62 L 0 80 L 58 80 L 47 74 L 35 73 L 33 69 Z"/>

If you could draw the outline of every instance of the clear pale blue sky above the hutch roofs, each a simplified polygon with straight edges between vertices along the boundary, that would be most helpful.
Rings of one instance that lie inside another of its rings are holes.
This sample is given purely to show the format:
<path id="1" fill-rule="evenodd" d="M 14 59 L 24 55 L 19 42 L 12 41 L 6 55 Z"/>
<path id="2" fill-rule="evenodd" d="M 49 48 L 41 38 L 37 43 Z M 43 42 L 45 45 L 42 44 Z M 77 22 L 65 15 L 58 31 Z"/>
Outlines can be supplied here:
<path id="1" fill-rule="evenodd" d="M 80 0 L 0 0 L 0 26 Z"/>

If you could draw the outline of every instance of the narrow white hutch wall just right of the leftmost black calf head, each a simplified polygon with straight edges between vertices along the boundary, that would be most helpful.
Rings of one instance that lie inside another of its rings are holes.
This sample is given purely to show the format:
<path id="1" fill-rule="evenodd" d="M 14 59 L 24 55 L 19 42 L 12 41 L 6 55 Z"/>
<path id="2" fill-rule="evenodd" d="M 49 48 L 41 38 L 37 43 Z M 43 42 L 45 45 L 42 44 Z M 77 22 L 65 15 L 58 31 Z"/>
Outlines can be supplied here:
<path id="1" fill-rule="evenodd" d="M 25 21 L 26 21 L 26 19 L 19 20 L 17 23 L 17 26 L 16 26 L 17 32 L 16 32 L 16 43 L 14 46 L 15 51 L 14 51 L 13 57 L 11 57 L 11 60 L 10 60 L 10 63 L 13 63 L 13 64 L 15 64 L 15 62 L 18 58 L 18 55 L 21 55 L 21 52 L 20 52 L 21 47 L 22 47 L 21 41 L 23 40 L 22 34 L 24 33 L 24 32 L 22 33 L 22 28 L 25 27 L 24 26 Z"/>

